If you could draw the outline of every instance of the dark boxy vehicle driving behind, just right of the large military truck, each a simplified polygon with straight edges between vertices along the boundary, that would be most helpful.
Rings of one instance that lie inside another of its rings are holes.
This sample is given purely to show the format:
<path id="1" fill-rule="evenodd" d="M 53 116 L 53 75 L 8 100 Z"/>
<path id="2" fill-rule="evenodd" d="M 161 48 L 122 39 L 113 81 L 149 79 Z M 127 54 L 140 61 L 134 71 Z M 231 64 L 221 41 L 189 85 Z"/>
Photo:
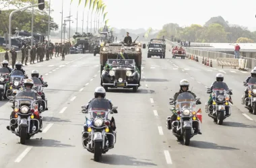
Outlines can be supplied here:
<path id="1" fill-rule="evenodd" d="M 148 58 L 160 56 L 165 58 L 166 44 L 164 39 L 151 39 L 148 44 Z"/>

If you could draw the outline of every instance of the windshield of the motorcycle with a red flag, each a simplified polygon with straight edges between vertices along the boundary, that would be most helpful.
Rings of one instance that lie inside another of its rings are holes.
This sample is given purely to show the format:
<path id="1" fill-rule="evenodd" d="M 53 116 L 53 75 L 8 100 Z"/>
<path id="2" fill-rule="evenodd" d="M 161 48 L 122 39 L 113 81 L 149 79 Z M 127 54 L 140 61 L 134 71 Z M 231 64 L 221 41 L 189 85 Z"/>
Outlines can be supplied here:
<path id="1" fill-rule="evenodd" d="M 176 100 L 176 109 L 183 111 L 183 109 L 195 110 L 195 97 L 189 92 L 179 94 Z"/>

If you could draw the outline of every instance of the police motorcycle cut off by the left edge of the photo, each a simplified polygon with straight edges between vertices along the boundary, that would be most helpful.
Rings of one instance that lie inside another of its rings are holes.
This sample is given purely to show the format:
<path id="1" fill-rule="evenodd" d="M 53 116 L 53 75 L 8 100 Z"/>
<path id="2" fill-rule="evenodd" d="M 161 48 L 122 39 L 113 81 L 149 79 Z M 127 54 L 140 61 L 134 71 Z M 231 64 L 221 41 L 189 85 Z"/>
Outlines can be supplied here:
<path id="1" fill-rule="evenodd" d="M 0 101 L 6 97 L 7 81 L 9 81 L 9 70 L 6 67 L 0 68 Z"/>

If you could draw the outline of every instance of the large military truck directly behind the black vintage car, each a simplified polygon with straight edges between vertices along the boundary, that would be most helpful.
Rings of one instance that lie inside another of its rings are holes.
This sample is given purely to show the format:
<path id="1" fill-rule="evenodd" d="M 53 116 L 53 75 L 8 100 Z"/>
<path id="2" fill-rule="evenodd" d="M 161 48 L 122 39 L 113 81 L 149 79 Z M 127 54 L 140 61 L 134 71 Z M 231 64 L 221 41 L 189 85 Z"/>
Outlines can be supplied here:
<path id="1" fill-rule="evenodd" d="M 121 48 L 125 48 L 125 53 L 129 56 L 129 59 L 134 59 L 137 69 L 139 69 L 139 78 L 141 78 L 141 44 L 132 43 L 131 45 L 124 45 L 122 43 L 110 43 L 104 44 L 100 48 L 100 76 L 106 66 L 108 59 L 116 59 L 117 55 L 121 52 Z M 102 80 L 100 82 L 102 85 Z"/>

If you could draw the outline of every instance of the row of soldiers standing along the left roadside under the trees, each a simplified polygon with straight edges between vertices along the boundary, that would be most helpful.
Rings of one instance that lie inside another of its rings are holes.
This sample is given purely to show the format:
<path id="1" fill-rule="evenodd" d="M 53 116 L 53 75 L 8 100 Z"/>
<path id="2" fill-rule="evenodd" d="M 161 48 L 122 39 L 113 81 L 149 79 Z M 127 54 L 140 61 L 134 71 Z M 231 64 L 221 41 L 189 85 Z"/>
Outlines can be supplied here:
<path id="1" fill-rule="evenodd" d="M 27 65 L 29 55 L 30 64 L 35 64 L 35 60 L 37 60 L 37 62 L 43 62 L 44 56 L 46 56 L 45 60 L 52 59 L 53 52 L 55 52 L 55 57 L 61 54 L 62 60 L 65 60 L 65 54 L 69 54 L 70 46 L 70 42 L 66 42 L 65 44 L 55 43 L 55 46 L 53 43 L 50 43 L 49 45 L 46 43 L 39 43 L 34 45 L 33 47 L 31 47 L 29 44 L 22 43 L 22 66 L 24 66 L 24 63 L 25 65 Z M 5 60 L 9 61 L 8 48 L 6 48 L 5 50 Z M 14 68 L 15 62 L 17 60 L 17 52 L 15 51 L 15 48 L 12 48 L 9 52 L 11 53 L 11 65 Z"/>

